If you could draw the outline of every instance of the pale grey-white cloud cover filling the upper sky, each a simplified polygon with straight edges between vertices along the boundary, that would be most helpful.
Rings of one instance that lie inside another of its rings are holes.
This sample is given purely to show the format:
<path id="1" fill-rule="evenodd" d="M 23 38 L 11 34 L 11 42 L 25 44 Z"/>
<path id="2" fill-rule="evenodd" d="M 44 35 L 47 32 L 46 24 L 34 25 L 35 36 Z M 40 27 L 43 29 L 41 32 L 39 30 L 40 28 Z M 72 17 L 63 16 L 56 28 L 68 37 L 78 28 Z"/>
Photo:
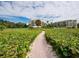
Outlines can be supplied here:
<path id="1" fill-rule="evenodd" d="M 62 21 L 79 19 L 78 1 L 1 1 L 0 15 Z"/>

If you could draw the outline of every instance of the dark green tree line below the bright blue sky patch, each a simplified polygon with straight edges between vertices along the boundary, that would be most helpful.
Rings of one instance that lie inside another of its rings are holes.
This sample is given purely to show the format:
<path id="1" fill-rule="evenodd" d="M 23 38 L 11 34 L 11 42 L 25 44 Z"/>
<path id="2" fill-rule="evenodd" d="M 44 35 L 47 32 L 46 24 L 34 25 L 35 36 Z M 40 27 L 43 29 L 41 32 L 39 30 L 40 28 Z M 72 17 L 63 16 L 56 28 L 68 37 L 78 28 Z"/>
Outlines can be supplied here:
<path id="1" fill-rule="evenodd" d="M 3 28 L 4 26 L 6 28 L 26 28 L 28 27 L 28 25 L 26 25 L 25 23 L 21 23 L 21 22 L 14 23 L 14 22 L 2 20 L 2 19 L 0 19 L 0 26 L 1 28 Z"/>

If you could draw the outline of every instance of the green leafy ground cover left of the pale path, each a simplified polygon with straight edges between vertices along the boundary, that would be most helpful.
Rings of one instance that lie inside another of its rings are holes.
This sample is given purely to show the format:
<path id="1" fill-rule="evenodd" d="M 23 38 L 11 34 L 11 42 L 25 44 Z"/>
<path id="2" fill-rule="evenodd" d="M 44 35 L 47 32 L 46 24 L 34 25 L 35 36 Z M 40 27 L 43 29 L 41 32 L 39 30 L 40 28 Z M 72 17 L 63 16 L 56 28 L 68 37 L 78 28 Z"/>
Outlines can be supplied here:
<path id="1" fill-rule="evenodd" d="M 5 29 L 0 31 L 0 58 L 23 58 L 40 33 L 35 29 Z"/>

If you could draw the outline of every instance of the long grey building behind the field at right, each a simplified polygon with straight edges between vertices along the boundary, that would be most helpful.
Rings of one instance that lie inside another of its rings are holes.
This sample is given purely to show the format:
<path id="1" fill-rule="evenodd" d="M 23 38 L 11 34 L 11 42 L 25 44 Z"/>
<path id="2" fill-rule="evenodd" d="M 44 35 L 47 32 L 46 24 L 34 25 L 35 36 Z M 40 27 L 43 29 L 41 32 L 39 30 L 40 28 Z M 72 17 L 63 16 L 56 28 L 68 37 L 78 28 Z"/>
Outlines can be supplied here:
<path id="1" fill-rule="evenodd" d="M 54 27 L 77 28 L 77 20 L 65 20 L 53 23 Z"/>

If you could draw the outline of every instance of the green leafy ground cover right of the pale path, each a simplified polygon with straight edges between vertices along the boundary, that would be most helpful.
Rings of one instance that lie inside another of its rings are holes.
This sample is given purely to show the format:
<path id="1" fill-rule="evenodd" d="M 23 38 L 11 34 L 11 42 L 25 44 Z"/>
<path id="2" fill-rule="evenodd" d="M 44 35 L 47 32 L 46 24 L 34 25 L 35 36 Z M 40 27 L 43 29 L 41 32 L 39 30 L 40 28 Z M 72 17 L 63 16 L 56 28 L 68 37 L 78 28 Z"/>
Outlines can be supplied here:
<path id="1" fill-rule="evenodd" d="M 79 57 L 79 29 L 47 29 L 46 38 L 59 57 Z"/>

